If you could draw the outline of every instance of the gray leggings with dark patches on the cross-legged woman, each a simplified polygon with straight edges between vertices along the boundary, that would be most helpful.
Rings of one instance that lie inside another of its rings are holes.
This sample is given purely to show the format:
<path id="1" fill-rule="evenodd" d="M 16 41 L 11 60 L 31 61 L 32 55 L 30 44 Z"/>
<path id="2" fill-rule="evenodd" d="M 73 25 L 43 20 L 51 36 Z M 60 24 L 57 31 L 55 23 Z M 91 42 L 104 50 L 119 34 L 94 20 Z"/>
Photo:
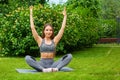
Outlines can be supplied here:
<path id="1" fill-rule="evenodd" d="M 66 54 L 55 62 L 53 59 L 40 59 L 40 61 L 36 61 L 32 56 L 27 55 L 25 57 L 27 64 L 37 71 L 42 71 L 44 68 L 58 68 L 58 70 L 60 70 L 62 67 L 66 66 L 71 61 L 71 59 L 71 54 Z"/>

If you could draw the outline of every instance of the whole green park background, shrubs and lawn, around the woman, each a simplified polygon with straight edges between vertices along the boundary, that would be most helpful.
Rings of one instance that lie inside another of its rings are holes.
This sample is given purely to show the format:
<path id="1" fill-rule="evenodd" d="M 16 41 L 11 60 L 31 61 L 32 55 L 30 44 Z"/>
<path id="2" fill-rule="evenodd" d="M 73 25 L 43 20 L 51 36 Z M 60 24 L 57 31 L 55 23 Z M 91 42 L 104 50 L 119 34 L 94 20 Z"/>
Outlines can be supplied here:
<path id="1" fill-rule="evenodd" d="M 45 23 L 51 23 L 55 35 L 58 33 L 66 6 L 67 24 L 55 59 L 72 53 L 69 66 L 75 71 L 35 75 L 15 72 L 15 68 L 30 68 L 24 61 L 25 55 L 39 59 L 39 48 L 30 29 L 30 5 L 34 6 L 39 35 Z M 50 0 L 0 0 L 0 79 L 119 80 L 119 16 L 120 0 L 58 0 L 55 4 Z M 100 42 L 103 38 L 115 41 Z"/>

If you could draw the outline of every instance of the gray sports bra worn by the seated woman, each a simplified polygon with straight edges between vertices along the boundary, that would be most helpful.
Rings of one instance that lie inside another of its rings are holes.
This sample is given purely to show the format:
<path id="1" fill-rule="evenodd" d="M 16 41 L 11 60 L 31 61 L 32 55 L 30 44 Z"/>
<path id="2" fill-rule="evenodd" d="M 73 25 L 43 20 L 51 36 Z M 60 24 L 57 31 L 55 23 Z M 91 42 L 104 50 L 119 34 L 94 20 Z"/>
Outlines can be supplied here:
<path id="1" fill-rule="evenodd" d="M 55 52 L 55 43 L 52 40 L 51 44 L 45 44 L 45 39 L 42 39 L 40 52 Z"/>

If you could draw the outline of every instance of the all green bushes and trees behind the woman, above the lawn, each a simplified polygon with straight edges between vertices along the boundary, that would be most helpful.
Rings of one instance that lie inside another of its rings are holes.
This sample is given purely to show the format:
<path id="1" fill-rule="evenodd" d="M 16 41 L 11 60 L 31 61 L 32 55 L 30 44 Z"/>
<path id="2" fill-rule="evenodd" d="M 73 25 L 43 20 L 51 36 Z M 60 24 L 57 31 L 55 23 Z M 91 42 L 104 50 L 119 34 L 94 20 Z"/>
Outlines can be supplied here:
<path id="1" fill-rule="evenodd" d="M 119 38 L 119 0 L 68 0 L 53 4 L 45 0 L 2 0 L 0 4 L 1 56 L 39 55 L 29 21 L 29 6 L 34 6 L 33 17 L 41 35 L 43 25 L 51 23 L 55 35 L 62 24 L 62 10 L 67 7 L 67 25 L 57 47 L 65 54 L 84 47 L 92 47 L 100 38 Z M 118 20 L 117 20 L 118 19 Z"/>

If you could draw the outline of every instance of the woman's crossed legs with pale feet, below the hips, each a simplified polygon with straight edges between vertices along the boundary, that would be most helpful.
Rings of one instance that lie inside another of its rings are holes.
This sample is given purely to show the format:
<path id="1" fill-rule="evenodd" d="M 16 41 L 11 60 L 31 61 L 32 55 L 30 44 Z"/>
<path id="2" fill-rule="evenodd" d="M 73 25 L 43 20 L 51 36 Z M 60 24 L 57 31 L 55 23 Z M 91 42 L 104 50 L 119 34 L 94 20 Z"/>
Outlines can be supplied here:
<path id="1" fill-rule="evenodd" d="M 35 60 L 34 57 L 27 55 L 25 57 L 25 60 L 27 62 L 27 64 L 29 66 L 31 66 L 32 68 L 36 69 L 37 71 L 43 71 L 43 72 L 51 72 L 51 68 L 52 71 L 58 71 L 60 70 L 62 67 L 66 66 L 72 59 L 72 55 L 71 54 L 66 54 L 64 55 L 62 58 L 60 58 L 58 61 L 54 62 L 50 68 L 45 69 L 44 65 L 41 62 L 37 62 Z"/>

